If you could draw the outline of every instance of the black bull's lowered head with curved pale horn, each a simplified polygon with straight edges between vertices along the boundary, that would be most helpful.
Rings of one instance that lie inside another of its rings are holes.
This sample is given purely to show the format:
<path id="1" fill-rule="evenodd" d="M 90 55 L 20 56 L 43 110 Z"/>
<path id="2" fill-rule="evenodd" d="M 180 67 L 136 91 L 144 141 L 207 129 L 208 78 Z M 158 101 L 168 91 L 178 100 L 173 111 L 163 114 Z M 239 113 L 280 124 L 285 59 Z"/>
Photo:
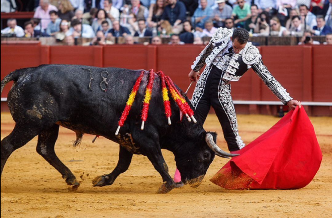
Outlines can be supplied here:
<path id="1" fill-rule="evenodd" d="M 188 143 L 191 143 L 191 146 L 188 146 Z M 181 152 L 175 154 L 176 166 L 181 173 L 182 182 L 188 182 L 191 187 L 198 187 L 202 183 L 215 155 L 224 158 L 237 156 L 224 152 L 216 145 L 215 132 L 204 132 L 200 139 L 185 142 L 181 147 Z"/>

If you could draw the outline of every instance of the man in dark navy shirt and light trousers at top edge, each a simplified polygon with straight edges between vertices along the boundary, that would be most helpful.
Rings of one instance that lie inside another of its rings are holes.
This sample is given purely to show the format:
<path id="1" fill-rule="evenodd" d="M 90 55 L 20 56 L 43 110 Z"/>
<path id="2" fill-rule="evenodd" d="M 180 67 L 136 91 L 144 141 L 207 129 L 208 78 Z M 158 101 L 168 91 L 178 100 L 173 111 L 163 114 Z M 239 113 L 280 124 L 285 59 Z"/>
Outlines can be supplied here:
<path id="1" fill-rule="evenodd" d="M 172 32 L 179 34 L 183 30 L 182 22 L 186 20 L 186 6 L 177 0 L 166 0 L 166 3 L 161 21 L 167 20 L 173 27 Z"/>

